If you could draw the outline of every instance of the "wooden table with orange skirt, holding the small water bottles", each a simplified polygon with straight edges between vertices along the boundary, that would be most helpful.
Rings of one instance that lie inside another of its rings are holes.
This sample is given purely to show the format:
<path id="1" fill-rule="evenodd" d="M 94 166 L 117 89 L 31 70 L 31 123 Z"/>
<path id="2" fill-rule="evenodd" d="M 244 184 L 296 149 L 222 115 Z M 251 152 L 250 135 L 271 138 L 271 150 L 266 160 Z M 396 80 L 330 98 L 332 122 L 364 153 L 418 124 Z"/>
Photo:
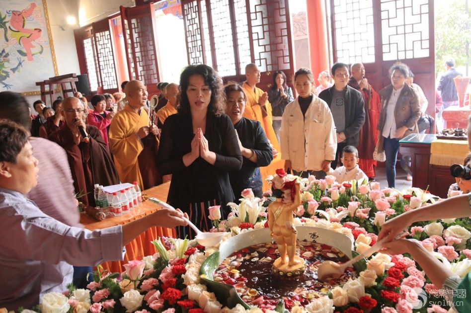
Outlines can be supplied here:
<path id="1" fill-rule="evenodd" d="M 151 189 L 145 190 L 143 194 L 146 194 L 149 197 L 155 197 L 157 199 L 166 201 L 169 187 L 170 182 L 167 182 Z M 107 218 L 103 221 L 97 221 L 82 212 L 82 214 L 80 215 L 80 223 L 82 223 L 86 229 L 93 231 L 97 229 L 127 224 L 134 220 L 140 219 L 146 215 L 152 214 L 158 209 L 160 209 L 160 206 L 158 206 L 157 204 L 150 201 L 145 201 L 140 203 L 139 206 L 133 208 L 129 213 L 125 213 L 117 217 Z M 149 230 L 139 235 L 138 237 L 136 237 L 136 239 L 126 245 L 126 255 L 124 256 L 123 261 L 105 262 L 101 265 L 104 269 L 107 269 L 110 272 L 123 272 L 123 264 L 126 264 L 131 260 L 141 260 L 147 255 L 153 255 L 154 253 L 156 253 L 156 249 L 151 243 L 151 241 L 159 236 L 175 237 L 175 229 L 162 227 L 150 228 Z"/>

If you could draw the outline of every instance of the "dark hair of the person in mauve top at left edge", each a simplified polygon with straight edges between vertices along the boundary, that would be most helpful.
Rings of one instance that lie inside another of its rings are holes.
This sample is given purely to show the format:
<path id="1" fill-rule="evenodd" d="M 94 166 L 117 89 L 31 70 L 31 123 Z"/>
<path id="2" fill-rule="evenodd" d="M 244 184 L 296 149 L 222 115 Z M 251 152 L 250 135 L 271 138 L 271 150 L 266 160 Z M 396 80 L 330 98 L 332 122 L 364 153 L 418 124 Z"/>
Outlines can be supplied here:
<path id="1" fill-rule="evenodd" d="M 25 97 L 13 91 L 0 92 L 0 119 L 8 119 L 31 129 L 31 111 Z"/>

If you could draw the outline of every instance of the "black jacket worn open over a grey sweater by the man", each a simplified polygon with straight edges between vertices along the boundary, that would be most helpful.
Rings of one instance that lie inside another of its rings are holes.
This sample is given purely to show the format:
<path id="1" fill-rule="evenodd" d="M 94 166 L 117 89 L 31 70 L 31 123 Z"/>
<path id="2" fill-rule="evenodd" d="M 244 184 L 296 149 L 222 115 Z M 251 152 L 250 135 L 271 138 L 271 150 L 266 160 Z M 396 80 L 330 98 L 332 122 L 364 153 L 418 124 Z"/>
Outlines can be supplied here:
<path id="1" fill-rule="evenodd" d="M 319 93 L 319 98 L 324 100 L 330 108 L 332 102 L 332 90 L 335 88 L 333 85 L 330 88 L 322 90 Z M 345 91 L 345 143 L 350 146 L 358 146 L 359 133 L 363 124 L 365 123 L 365 104 L 360 91 L 347 85 Z"/>

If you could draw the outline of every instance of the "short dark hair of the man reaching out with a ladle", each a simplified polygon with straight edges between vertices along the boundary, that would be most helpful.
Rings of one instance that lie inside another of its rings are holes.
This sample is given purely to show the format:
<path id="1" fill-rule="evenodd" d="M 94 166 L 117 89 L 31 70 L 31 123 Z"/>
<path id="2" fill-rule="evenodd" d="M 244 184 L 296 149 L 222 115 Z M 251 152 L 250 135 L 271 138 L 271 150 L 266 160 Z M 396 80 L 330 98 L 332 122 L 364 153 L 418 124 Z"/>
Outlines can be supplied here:
<path id="1" fill-rule="evenodd" d="M 28 142 L 28 131 L 13 121 L 0 121 L 0 162 L 16 164 L 16 157 Z"/>

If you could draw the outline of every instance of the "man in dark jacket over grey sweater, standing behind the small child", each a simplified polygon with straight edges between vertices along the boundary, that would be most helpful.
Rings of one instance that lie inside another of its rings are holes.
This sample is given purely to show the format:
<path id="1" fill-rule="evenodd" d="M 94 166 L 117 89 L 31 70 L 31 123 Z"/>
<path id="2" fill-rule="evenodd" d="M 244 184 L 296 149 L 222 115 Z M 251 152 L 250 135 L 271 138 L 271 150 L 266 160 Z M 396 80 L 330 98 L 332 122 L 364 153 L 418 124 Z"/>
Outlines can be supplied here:
<path id="1" fill-rule="evenodd" d="M 346 64 L 335 63 L 331 72 L 334 85 L 320 92 L 319 98 L 329 106 L 337 131 L 337 152 L 330 165 L 335 169 L 343 148 L 358 146 L 359 133 L 365 123 L 365 105 L 361 93 L 347 85 L 350 74 Z"/>

